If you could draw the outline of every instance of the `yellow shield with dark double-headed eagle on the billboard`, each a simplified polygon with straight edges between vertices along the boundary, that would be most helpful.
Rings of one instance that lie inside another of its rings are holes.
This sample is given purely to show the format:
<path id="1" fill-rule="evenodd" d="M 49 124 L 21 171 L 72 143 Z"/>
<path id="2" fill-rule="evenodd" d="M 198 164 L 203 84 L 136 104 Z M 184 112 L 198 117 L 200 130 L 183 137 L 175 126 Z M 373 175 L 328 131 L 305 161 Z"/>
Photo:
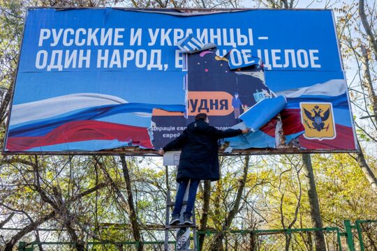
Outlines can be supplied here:
<path id="1" fill-rule="evenodd" d="M 301 122 L 306 139 L 334 139 L 334 114 L 330 102 L 300 102 Z"/>

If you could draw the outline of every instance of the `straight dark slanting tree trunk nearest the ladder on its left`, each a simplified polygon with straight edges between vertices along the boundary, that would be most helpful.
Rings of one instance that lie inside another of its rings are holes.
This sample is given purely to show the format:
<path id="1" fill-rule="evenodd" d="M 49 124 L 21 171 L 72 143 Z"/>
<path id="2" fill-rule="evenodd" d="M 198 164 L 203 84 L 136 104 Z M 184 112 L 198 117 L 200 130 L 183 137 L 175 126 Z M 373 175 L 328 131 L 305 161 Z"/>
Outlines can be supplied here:
<path id="1" fill-rule="evenodd" d="M 140 244 L 138 245 L 138 250 L 143 250 L 142 248 L 142 238 L 140 235 L 140 227 L 138 223 L 138 215 L 136 215 L 135 205 L 133 204 L 133 195 L 131 190 L 131 178 L 130 172 L 128 171 L 126 157 L 124 155 L 120 155 L 121 159 L 121 168 L 123 169 L 124 181 L 126 181 L 126 190 L 127 190 L 127 203 L 128 203 L 128 210 L 129 210 L 129 218 L 131 222 L 132 234 L 135 241 L 139 241 Z"/>

